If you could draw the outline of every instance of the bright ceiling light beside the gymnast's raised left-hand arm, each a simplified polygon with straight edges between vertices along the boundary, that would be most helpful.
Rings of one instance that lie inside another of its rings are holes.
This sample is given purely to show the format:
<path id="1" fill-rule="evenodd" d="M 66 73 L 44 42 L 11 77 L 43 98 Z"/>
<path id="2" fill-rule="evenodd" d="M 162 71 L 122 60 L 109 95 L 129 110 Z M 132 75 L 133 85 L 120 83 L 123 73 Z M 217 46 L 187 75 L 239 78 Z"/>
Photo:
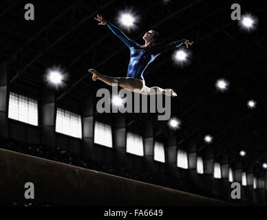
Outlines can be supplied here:
<path id="1" fill-rule="evenodd" d="M 137 28 L 136 23 L 139 17 L 133 12 L 132 9 L 123 10 L 119 12 L 118 23 L 122 28 L 126 28 L 128 31 Z"/>

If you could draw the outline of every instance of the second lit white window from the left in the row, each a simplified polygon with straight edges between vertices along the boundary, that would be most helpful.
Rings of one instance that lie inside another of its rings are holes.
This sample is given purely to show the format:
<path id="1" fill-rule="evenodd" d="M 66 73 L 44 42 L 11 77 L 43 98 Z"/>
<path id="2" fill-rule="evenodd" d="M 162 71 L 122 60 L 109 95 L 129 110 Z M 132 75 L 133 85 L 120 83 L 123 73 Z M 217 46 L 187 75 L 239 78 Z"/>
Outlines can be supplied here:
<path id="1" fill-rule="evenodd" d="M 58 108 L 56 110 L 56 132 L 82 138 L 81 115 Z"/>

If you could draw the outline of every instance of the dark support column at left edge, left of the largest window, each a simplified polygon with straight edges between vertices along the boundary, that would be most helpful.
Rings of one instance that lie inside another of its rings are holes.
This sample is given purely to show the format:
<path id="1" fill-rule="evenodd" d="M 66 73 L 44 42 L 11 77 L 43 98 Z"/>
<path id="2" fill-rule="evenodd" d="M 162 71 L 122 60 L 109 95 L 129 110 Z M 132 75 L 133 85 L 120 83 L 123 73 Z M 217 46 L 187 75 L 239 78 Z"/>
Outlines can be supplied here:
<path id="1" fill-rule="evenodd" d="M 8 61 L 0 65 L 0 137 L 8 137 Z"/>

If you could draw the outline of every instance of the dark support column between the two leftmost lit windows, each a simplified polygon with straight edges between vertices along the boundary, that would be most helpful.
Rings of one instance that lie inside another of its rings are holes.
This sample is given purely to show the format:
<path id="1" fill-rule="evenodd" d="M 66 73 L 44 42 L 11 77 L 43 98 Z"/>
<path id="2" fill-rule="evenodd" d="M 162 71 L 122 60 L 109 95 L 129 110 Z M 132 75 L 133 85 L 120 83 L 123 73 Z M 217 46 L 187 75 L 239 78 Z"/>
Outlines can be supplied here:
<path id="1" fill-rule="evenodd" d="M 41 100 L 41 142 L 56 145 L 56 107 L 54 91 L 43 90 Z"/>

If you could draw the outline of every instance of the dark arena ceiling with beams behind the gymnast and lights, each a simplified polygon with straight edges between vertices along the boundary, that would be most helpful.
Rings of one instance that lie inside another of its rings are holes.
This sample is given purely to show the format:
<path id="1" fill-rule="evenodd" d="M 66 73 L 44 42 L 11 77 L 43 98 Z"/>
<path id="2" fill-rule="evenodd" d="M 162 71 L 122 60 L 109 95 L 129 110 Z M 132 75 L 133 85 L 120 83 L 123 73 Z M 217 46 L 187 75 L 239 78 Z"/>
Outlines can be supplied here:
<path id="1" fill-rule="evenodd" d="M 136 30 L 127 32 L 142 44 L 147 30 L 157 30 L 167 42 L 190 39 L 190 63 L 173 65 L 172 54 L 159 56 L 147 68 L 147 85 L 173 88 L 172 115 L 182 121 L 176 131 L 181 140 L 195 139 L 203 145 L 213 135 L 218 153 L 247 152 L 244 166 L 255 169 L 267 160 L 266 150 L 266 33 L 267 5 L 264 1 L 239 1 L 242 13 L 257 19 L 257 29 L 244 32 L 231 20 L 228 1 L 34 1 L 35 20 L 25 21 L 25 1 L 0 1 L 0 61 L 8 61 L 10 88 L 47 87 L 45 69 L 61 65 L 68 78 L 56 90 L 58 102 L 81 104 L 103 83 L 93 82 L 87 69 L 109 76 L 126 76 L 129 51 L 105 26 L 97 25 L 96 12 L 117 25 L 118 12 L 128 9 L 140 16 Z M 184 47 L 184 46 L 183 46 Z M 224 93 L 216 80 L 230 83 Z M 253 99 L 255 109 L 246 103 Z M 131 122 L 151 120 L 149 114 L 132 114 Z M 163 133 L 166 123 L 156 124 Z"/>

